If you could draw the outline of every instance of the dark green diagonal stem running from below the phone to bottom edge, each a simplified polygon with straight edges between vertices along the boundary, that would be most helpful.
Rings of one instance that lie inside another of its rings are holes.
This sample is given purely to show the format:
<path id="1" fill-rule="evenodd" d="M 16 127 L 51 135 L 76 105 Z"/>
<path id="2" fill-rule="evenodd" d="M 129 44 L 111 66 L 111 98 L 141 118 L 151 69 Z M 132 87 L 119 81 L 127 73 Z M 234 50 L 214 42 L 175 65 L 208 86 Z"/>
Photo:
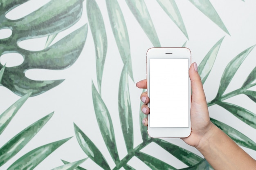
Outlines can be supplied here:
<path id="1" fill-rule="evenodd" d="M 121 167 L 125 166 L 128 161 L 130 161 L 130 159 L 132 159 L 132 157 L 134 157 L 135 155 L 137 155 L 137 153 L 139 153 L 139 151 L 141 149 L 143 149 L 145 146 L 147 146 L 148 144 L 150 144 L 152 141 L 154 140 L 154 138 L 148 138 L 147 140 L 143 141 L 141 144 L 139 144 L 136 148 L 134 148 L 133 150 L 131 150 L 131 152 L 129 152 L 116 166 L 114 169 L 112 170 L 119 170 Z"/>

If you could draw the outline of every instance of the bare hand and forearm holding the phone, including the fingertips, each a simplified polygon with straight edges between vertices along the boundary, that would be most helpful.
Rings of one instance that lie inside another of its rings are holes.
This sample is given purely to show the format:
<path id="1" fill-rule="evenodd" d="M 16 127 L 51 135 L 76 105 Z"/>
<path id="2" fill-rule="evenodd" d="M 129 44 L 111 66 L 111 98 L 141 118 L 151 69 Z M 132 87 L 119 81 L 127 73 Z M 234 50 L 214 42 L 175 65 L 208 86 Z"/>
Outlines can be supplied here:
<path id="1" fill-rule="evenodd" d="M 189 137 L 182 138 L 182 140 L 198 149 L 215 170 L 256 170 L 256 161 L 210 121 L 196 63 L 191 64 L 189 77 L 193 93 L 190 110 L 192 131 Z M 136 86 L 147 88 L 147 80 L 137 82 Z M 141 107 L 142 112 L 149 114 L 147 92 L 142 93 L 140 99 L 144 102 Z M 142 123 L 147 126 L 147 118 L 143 119 Z"/>

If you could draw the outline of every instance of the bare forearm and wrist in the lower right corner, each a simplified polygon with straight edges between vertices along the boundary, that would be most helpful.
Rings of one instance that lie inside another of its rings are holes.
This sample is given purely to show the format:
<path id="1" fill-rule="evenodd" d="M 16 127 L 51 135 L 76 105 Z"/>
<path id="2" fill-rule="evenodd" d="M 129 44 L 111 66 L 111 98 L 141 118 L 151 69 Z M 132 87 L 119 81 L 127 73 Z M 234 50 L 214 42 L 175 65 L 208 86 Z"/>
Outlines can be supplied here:
<path id="1" fill-rule="evenodd" d="M 196 148 L 214 170 L 256 170 L 256 161 L 222 130 L 212 126 L 211 133 Z"/>

